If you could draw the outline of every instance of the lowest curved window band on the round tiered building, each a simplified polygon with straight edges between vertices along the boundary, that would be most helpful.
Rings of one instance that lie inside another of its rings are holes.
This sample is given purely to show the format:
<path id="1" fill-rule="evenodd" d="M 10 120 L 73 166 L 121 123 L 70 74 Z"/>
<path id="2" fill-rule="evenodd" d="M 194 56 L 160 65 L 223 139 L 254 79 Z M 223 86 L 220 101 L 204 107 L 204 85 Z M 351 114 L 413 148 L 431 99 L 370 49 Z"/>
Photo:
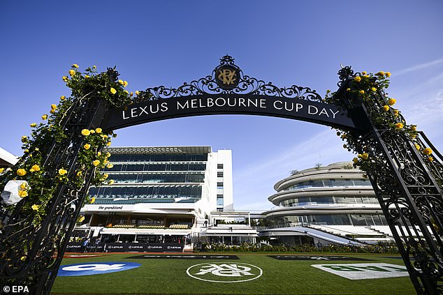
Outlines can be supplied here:
<path id="1" fill-rule="evenodd" d="M 331 214 L 331 215 L 300 215 L 275 218 L 277 225 L 289 223 L 318 225 L 388 225 L 382 214 Z"/>

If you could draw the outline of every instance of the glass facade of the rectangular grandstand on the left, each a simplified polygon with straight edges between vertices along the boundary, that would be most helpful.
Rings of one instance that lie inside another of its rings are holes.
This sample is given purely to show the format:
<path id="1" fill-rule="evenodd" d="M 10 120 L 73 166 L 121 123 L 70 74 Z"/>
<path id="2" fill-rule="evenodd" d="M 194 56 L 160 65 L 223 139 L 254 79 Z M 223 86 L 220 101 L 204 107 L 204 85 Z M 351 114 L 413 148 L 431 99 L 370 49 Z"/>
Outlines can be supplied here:
<path id="1" fill-rule="evenodd" d="M 110 163 L 113 167 L 103 172 L 108 173 L 108 179 L 115 183 L 112 186 L 90 188 L 89 194 L 103 199 L 103 202 L 105 199 L 116 198 L 159 201 L 185 198 L 195 201 L 201 199 L 207 160 L 207 153 L 112 154 Z"/>

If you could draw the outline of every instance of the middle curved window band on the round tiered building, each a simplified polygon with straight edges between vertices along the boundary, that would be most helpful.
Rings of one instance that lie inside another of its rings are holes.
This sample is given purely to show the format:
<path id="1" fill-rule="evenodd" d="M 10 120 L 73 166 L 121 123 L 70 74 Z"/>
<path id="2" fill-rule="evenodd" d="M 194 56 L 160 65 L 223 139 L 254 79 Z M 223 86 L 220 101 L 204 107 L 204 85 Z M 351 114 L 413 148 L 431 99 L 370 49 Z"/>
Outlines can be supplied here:
<path id="1" fill-rule="evenodd" d="M 293 207 L 309 204 L 379 204 L 375 197 L 299 197 L 286 199 L 280 202 L 280 206 Z"/>

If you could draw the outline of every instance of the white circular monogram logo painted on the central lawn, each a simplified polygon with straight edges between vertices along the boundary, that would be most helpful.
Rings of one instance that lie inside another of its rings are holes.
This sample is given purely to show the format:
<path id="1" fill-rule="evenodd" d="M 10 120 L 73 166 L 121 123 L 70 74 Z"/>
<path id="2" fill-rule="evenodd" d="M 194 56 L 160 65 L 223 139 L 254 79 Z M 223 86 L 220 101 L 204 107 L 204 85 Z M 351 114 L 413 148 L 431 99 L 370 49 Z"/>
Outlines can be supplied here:
<path id="1" fill-rule="evenodd" d="M 260 278 L 261 268 L 238 262 L 210 262 L 189 267 L 186 273 L 197 280 L 207 282 L 247 282 Z"/>

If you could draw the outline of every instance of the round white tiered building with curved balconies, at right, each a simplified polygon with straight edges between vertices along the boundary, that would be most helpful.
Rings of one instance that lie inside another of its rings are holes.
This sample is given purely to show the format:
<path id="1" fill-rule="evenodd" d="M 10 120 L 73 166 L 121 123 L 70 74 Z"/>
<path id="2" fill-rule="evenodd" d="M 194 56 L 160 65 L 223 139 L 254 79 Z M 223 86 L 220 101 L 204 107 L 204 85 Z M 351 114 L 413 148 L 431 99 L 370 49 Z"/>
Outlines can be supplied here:
<path id="1" fill-rule="evenodd" d="M 370 181 L 351 162 L 295 172 L 274 188 L 261 236 L 288 244 L 393 241 Z"/>

